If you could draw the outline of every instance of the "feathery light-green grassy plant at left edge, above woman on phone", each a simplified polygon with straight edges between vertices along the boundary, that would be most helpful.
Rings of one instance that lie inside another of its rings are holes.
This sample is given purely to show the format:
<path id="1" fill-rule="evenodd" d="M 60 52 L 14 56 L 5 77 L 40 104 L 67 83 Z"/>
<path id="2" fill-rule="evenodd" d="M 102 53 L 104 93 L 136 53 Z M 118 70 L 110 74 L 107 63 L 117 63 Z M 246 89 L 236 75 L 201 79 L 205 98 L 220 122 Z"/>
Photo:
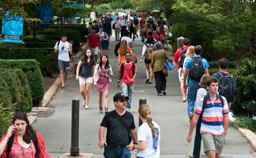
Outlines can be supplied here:
<path id="1" fill-rule="evenodd" d="M 9 126 L 13 120 L 14 112 L 10 112 L 10 108 L 3 107 L 0 103 L 0 135 L 7 133 Z"/>

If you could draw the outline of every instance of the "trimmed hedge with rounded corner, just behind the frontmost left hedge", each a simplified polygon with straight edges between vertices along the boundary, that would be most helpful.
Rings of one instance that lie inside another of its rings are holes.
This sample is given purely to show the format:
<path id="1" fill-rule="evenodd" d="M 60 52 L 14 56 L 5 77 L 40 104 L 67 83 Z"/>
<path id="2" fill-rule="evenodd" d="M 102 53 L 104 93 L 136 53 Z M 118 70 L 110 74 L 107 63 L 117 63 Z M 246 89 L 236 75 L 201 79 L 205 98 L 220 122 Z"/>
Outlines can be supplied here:
<path id="1" fill-rule="evenodd" d="M 39 67 L 39 63 L 36 60 L 0 60 L 0 67 L 8 69 L 21 69 L 26 74 L 33 101 L 39 101 L 43 99 L 43 76 Z"/>

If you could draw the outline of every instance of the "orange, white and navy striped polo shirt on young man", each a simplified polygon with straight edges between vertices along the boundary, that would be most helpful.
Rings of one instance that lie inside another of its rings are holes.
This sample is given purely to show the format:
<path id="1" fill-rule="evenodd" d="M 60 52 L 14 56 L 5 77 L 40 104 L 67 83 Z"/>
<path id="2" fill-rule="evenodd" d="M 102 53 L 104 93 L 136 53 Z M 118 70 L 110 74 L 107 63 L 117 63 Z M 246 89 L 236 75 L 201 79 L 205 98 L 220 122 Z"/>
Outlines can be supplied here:
<path id="1" fill-rule="evenodd" d="M 206 96 L 207 102 L 202 116 L 200 133 L 206 132 L 212 135 L 222 135 L 224 132 L 222 115 L 228 114 L 228 103 L 226 98 L 222 96 L 224 103 L 224 105 L 222 105 L 218 95 L 215 100 L 210 99 L 209 94 Z M 203 102 L 204 98 L 201 98 L 200 101 L 198 101 L 195 114 L 200 115 L 202 113 Z"/>

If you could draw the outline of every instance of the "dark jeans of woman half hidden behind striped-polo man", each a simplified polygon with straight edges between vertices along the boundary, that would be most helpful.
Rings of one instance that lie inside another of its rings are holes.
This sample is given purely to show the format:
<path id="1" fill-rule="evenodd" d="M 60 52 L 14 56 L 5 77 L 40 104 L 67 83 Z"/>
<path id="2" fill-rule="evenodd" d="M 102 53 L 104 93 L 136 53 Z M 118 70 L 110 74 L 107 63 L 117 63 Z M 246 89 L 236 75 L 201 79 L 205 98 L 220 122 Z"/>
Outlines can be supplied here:
<path id="1" fill-rule="evenodd" d="M 195 141 L 194 141 L 194 150 L 193 150 L 193 156 L 194 158 L 200 157 L 200 150 L 201 150 L 201 134 L 200 134 L 200 127 L 201 122 L 197 121 L 196 127 L 195 127 Z"/>

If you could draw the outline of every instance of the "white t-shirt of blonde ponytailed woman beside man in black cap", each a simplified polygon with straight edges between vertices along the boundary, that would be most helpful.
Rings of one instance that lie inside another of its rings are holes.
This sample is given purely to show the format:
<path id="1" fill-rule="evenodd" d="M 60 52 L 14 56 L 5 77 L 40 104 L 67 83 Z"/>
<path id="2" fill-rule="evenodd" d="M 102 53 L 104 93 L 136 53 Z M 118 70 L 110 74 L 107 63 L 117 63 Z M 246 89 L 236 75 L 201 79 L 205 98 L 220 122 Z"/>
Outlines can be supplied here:
<path id="1" fill-rule="evenodd" d="M 160 127 L 152 121 L 156 128 L 157 136 L 153 136 L 148 122 L 144 122 L 138 129 L 138 141 L 146 141 L 146 149 L 139 150 L 137 156 L 145 158 L 160 158 Z"/>

